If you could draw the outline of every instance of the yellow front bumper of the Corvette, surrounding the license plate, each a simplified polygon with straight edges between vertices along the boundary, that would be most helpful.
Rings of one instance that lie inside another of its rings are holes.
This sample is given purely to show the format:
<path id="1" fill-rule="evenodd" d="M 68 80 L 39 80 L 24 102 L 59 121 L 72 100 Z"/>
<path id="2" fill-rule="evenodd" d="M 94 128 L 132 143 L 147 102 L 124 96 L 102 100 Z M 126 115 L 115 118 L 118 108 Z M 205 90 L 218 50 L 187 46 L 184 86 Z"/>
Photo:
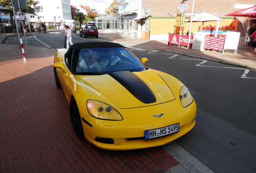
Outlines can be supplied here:
<path id="1" fill-rule="evenodd" d="M 164 145 L 185 135 L 195 125 L 196 103 L 193 102 L 186 108 L 177 107 L 178 104 L 180 105 L 177 101 L 171 101 L 160 104 L 161 106 L 154 105 L 119 110 L 124 117 L 122 121 L 105 121 L 91 116 L 84 117 L 84 120 L 88 121 L 87 123 L 82 121 L 85 138 L 89 143 L 107 150 L 141 149 Z M 154 112 L 163 110 L 163 107 L 168 108 L 164 111 L 164 116 L 161 118 L 152 116 L 155 115 Z M 145 115 L 147 119 L 145 119 Z M 89 126 L 88 123 L 93 127 Z M 178 133 L 157 139 L 145 140 L 145 131 L 176 123 L 180 123 L 180 131 Z"/>

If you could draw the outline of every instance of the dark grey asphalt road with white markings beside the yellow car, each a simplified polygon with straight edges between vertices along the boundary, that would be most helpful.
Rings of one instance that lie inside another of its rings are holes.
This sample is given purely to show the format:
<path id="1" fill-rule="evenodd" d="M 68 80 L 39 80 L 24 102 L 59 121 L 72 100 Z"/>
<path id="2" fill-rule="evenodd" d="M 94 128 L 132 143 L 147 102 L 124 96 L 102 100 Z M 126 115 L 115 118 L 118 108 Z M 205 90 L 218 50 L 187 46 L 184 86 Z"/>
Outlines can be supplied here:
<path id="1" fill-rule="evenodd" d="M 64 45 L 64 35 L 60 31 L 26 36 L 26 40 L 28 46 L 52 50 Z M 107 41 L 80 38 L 78 34 L 74 34 L 72 40 Z M 6 44 L 18 44 L 17 37 L 9 37 Z M 147 57 L 146 65 L 150 68 L 181 80 L 194 96 L 198 107 L 196 126 L 175 143 L 216 173 L 256 172 L 256 71 L 124 46 L 140 58 Z M 170 149 L 168 144 L 164 148 Z"/>

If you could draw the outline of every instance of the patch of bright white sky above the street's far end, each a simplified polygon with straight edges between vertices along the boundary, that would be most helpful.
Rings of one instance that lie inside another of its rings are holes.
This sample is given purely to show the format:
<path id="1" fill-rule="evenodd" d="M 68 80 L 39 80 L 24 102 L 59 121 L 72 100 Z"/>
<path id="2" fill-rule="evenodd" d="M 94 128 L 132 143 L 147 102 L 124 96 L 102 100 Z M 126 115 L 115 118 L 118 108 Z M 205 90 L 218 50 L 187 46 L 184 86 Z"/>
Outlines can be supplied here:
<path id="1" fill-rule="evenodd" d="M 90 9 L 96 9 L 99 14 L 105 14 L 105 8 L 113 3 L 114 0 L 70 0 L 70 4 L 73 6 L 78 6 L 83 4 L 83 6 L 89 6 Z"/>

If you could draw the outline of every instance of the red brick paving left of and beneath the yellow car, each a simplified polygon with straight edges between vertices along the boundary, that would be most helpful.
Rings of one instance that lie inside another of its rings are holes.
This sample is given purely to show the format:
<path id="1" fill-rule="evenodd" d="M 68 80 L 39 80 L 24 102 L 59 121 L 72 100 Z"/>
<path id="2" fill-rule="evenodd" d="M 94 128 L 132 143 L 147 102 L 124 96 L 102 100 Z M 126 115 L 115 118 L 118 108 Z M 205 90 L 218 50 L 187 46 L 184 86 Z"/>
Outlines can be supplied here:
<path id="1" fill-rule="evenodd" d="M 164 173 L 179 163 L 162 147 L 98 149 L 74 134 L 47 48 L 0 44 L 0 172 Z"/>

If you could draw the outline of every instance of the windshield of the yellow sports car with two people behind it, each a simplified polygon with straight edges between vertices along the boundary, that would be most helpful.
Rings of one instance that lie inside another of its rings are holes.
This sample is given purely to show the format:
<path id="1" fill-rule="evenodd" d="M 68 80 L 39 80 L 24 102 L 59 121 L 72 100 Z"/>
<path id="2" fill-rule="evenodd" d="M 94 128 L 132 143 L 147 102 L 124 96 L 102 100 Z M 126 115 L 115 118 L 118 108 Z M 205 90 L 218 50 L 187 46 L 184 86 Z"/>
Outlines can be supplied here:
<path id="1" fill-rule="evenodd" d="M 138 72 L 146 66 L 128 48 L 83 48 L 74 50 L 75 74 L 108 74 L 114 71 Z"/>

